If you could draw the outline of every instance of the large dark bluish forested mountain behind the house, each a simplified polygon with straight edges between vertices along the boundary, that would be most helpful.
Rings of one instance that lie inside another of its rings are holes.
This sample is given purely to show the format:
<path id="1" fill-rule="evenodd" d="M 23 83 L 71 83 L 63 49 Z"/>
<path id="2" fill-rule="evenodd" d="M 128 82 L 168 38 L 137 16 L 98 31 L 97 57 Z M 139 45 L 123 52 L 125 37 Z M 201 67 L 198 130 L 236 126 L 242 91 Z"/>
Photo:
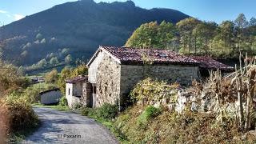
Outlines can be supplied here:
<path id="1" fill-rule="evenodd" d="M 178 10 L 142 9 L 131 1 L 67 2 L 0 27 L 0 52 L 16 65 L 39 67 L 51 61 L 54 66 L 64 59 L 86 60 L 99 45 L 124 46 L 142 23 L 188 17 Z"/>

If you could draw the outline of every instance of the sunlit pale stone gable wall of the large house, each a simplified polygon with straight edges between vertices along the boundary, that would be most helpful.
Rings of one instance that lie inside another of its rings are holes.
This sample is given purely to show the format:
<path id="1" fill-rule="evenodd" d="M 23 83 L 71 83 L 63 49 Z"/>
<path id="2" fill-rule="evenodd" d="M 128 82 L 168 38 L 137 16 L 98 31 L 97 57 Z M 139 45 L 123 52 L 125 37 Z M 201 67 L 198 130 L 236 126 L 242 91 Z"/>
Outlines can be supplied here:
<path id="1" fill-rule="evenodd" d="M 121 66 L 103 53 L 97 70 L 96 107 L 105 102 L 119 105 L 120 77 Z"/>

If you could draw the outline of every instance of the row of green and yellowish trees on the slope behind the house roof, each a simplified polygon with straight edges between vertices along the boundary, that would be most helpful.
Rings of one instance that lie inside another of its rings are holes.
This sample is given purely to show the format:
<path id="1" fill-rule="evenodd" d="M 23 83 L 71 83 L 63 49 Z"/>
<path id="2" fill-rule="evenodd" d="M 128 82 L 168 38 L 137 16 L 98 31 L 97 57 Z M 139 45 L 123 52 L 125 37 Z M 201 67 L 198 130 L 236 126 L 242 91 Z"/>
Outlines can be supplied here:
<path id="1" fill-rule="evenodd" d="M 126 42 L 131 47 L 176 50 L 182 54 L 238 58 L 239 52 L 256 53 L 256 18 L 248 22 L 244 14 L 234 21 L 200 21 L 186 18 L 176 25 L 170 22 L 143 24 Z"/>

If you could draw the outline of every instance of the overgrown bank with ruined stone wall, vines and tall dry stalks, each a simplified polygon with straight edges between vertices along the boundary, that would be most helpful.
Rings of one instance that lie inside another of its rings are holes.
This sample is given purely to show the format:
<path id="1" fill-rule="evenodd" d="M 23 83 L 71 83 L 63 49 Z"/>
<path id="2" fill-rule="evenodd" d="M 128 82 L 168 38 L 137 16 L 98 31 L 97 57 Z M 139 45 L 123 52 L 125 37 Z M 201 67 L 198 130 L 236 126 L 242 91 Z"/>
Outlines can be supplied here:
<path id="1" fill-rule="evenodd" d="M 185 95 L 178 86 L 146 78 L 131 91 L 136 104 L 118 116 L 112 130 L 128 143 L 254 143 L 255 59 L 245 64 L 225 77 L 212 72 Z"/>

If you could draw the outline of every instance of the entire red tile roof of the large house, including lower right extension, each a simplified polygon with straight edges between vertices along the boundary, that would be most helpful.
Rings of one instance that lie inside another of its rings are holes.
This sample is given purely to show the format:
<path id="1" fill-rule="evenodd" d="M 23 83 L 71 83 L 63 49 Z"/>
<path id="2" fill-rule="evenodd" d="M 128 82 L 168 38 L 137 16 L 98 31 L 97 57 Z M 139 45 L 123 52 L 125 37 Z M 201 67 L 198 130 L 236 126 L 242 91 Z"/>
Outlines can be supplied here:
<path id="1" fill-rule="evenodd" d="M 160 50 L 160 49 L 137 49 L 128 47 L 114 47 L 114 46 L 100 46 L 94 57 L 90 59 L 87 66 L 94 61 L 98 53 L 103 50 L 109 54 L 112 58 L 121 64 L 125 65 L 141 65 L 143 64 L 143 54 L 153 62 L 153 65 L 165 65 L 165 64 L 176 64 L 176 65 L 196 65 L 201 69 L 206 70 L 223 70 L 223 71 L 234 71 L 234 68 L 227 66 L 221 62 L 215 61 L 210 57 L 198 57 L 198 56 L 184 56 L 177 54 L 171 50 Z"/>

